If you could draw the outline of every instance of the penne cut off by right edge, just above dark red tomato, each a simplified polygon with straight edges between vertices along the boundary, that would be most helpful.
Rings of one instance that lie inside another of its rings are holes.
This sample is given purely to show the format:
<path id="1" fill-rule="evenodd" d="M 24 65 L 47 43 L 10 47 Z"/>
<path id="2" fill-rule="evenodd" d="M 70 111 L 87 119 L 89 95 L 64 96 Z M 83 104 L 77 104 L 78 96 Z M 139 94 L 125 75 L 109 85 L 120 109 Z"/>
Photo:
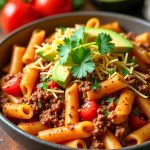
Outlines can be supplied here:
<path id="1" fill-rule="evenodd" d="M 141 96 L 136 96 L 136 103 L 144 114 L 150 118 L 150 100 Z"/>

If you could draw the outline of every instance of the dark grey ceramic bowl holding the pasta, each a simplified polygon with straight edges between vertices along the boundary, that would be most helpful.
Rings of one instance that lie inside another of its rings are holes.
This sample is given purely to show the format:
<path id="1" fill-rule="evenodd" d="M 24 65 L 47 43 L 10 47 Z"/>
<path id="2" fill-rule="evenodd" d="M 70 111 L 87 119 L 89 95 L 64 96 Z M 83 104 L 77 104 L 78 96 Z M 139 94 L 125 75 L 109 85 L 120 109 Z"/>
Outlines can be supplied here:
<path id="1" fill-rule="evenodd" d="M 133 31 L 134 33 L 137 34 L 145 31 L 150 31 L 150 23 L 146 21 L 108 12 L 78 12 L 48 17 L 25 25 L 24 27 L 12 32 L 10 35 L 5 37 L 0 42 L 0 68 L 8 64 L 11 55 L 12 45 L 13 44 L 18 44 L 21 46 L 26 45 L 27 42 L 29 41 L 29 37 L 33 29 L 43 28 L 47 31 L 47 34 L 49 35 L 54 31 L 56 27 L 60 26 L 67 27 L 67 26 L 74 26 L 74 24 L 83 24 L 91 17 L 98 17 L 102 21 L 102 23 L 118 21 L 124 28 L 124 30 Z M 12 122 L 6 119 L 1 113 L 0 113 L 0 126 L 8 133 L 10 137 L 12 137 L 12 139 L 20 143 L 28 150 L 69 149 L 58 144 L 45 142 L 28 133 L 23 132 L 22 130 L 17 128 Z M 130 148 L 128 147 L 123 149 L 132 149 L 132 150 L 150 149 L 150 142 L 145 142 L 141 145 L 135 145 Z"/>

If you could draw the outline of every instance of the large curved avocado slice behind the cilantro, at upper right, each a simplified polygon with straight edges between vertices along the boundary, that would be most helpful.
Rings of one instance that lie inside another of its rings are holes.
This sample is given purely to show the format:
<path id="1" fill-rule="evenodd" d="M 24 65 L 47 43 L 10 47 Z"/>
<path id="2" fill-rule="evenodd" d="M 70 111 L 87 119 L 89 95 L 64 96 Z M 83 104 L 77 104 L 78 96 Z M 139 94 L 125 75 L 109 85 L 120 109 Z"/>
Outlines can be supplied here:
<path id="1" fill-rule="evenodd" d="M 115 49 L 113 52 L 125 53 L 133 49 L 133 44 L 123 35 L 118 34 L 112 30 L 102 29 L 102 28 L 85 28 L 85 41 L 92 42 L 95 40 L 99 33 L 109 34 L 112 38 L 112 43 L 115 44 Z M 90 40 L 90 41 L 89 41 Z"/>

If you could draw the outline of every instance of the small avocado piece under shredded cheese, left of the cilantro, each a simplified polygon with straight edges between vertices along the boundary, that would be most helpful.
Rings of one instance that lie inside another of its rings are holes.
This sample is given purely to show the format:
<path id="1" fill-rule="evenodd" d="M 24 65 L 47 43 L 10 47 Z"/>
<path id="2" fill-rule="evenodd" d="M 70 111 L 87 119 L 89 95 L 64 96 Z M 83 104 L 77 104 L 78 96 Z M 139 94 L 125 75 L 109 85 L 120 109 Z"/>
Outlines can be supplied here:
<path id="1" fill-rule="evenodd" d="M 48 52 L 48 53 L 47 53 Z M 39 48 L 36 53 L 46 61 L 52 61 L 57 55 L 57 50 L 50 49 L 48 46 Z M 47 54 L 46 54 L 47 53 Z"/>

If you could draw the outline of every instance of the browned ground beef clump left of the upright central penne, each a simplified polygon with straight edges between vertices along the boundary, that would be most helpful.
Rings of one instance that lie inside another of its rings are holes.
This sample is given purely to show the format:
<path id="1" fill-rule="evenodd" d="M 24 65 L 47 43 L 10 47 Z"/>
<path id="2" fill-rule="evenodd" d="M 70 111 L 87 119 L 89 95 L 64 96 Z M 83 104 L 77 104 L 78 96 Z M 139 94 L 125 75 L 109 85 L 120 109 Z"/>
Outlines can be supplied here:
<path id="1" fill-rule="evenodd" d="M 56 99 L 48 91 L 38 89 L 29 98 L 21 98 L 19 103 L 26 103 L 34 110 L 33 118 L 50 127 L 64 125 L 64 102 Z"/>

